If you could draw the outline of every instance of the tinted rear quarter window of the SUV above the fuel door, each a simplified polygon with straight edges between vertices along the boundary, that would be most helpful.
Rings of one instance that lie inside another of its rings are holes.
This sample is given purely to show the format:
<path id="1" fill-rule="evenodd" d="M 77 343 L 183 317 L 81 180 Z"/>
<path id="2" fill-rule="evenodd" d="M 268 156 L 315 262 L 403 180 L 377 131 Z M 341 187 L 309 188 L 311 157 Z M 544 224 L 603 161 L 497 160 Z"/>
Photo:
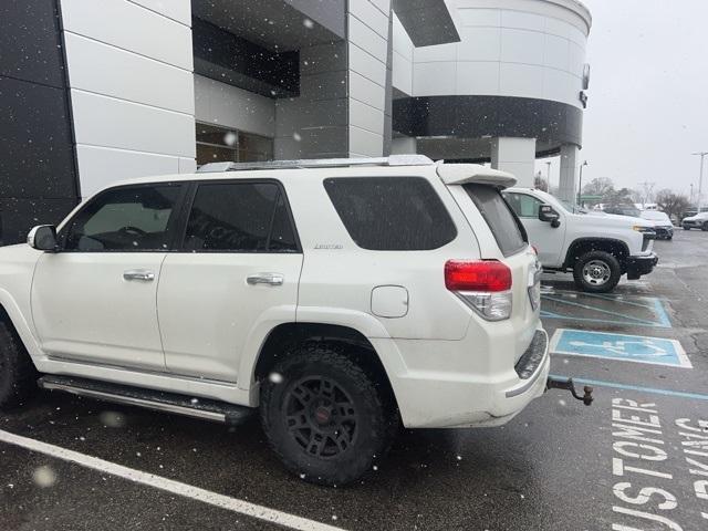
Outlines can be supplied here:
<path id="1" fill-rule="evenodd" d="M 445 205 L 421 177 L 330 178 L 324 188 L 363 249 L 426 251 L 457 237 Z"/>

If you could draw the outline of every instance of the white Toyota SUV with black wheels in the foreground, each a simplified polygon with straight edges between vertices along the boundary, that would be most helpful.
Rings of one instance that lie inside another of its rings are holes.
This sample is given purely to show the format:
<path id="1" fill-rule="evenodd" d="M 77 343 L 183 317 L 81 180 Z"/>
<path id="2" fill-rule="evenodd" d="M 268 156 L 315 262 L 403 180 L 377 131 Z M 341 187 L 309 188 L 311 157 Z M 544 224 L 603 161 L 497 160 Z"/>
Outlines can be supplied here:
<path id="1" fill-rule="evenodd" d="M 226 169 L 226 171 L 216 171 Z M 0 406 L 34 387 L 237 424 L 345 483 L 409 428 L 543 394 L 509 174 L 425 157 L 208 165 L 100 191 L 0 249 Z"/>

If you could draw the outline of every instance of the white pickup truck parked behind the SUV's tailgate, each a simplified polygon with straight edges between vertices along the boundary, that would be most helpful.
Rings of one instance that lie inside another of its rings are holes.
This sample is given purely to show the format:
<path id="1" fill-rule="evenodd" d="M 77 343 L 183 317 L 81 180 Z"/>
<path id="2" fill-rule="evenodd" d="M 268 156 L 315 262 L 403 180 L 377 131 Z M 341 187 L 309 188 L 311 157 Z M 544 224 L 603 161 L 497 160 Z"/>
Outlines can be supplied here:
<path id="1" fill-rule="evenodd" d="M 580 290 L 610 292 L 623 274 L 637 280 L 658 262 L 650 221 L 587 212 L 532 188 L 509 188 L 503 196 L 537 248 L 543 269 L 572 271 Z"/>

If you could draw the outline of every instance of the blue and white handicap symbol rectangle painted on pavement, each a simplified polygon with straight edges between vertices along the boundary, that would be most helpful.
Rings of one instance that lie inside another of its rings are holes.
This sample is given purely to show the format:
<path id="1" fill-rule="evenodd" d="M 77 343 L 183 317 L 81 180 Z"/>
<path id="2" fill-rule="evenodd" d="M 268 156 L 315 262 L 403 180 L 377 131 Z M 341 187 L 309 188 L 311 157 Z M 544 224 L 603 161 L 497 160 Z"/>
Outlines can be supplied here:
<path id="1" fill-rule="evenodd" d="M 693 368 L 678 341 L 643 335 L 558 329 L 551 340 L 551 353 Z"/>

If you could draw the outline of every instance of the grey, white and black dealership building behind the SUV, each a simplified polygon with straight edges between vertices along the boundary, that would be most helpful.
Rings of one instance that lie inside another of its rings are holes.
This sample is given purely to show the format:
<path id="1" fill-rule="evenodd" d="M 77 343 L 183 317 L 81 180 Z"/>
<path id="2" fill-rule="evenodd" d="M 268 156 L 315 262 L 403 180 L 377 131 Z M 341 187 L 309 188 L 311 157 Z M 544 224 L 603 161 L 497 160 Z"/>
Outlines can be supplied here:
<path id="1" fill-rule="evenodd" d="M 0 242 L 119 179 L 215 160 L 491 163 L 572 199 L 575 0 L 3 0 Z"/>

